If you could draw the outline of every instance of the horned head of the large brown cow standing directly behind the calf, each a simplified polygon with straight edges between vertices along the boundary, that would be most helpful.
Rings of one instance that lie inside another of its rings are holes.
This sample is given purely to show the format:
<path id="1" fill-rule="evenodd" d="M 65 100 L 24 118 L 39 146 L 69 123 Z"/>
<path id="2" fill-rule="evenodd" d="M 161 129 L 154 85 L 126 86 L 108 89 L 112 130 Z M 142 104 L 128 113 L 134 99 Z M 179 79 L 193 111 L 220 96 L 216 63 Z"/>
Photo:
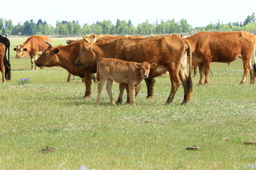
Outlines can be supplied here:
<path id="1" fill-rule="evenodd" d="M 99 59 L 96 58 L 95 51 L 93 50 L 93 45 L 97 41 L 96 35 L 93 41 L 86 39 L 84 36 L 83 38 L 85 40 L 85 44 L 81 47 L 80 54 L 75 61 L 75 64 L 81 69 L 85 68 L 86 66 L 94 65 Z"/>

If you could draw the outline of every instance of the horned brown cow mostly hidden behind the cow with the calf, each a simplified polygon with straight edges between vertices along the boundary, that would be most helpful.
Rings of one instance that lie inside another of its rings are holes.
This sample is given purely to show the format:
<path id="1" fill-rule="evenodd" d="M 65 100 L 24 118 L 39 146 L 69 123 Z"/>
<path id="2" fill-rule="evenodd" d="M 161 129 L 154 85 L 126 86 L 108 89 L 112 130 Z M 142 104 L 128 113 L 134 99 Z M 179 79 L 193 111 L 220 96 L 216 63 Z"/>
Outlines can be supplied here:
<path id="1" fill-rule="evenodd" d="M 118 38 L 114 37 L 112 39 Z M 128 39 L 128 38 L 127 38 Z M 109 40 L 109 39 L 108 39 Z M 93 41 L 93 40 L 92 40 Z M 96 40 L 95 40 L 96 41 Z M 99 41 L 107 42 L 105 39 Z M 81 78 L 85 77 L 85 96 L 83 98 L 89 99 L 91 96 L 91 75 L 97 72 L 97 65 L 85 67 L 83 69 L 75 65 L 81 47 L 84 45 L 85 40 L 81 39 L 77 42 L 61 47 L 53 47 L 52 43 L 48 43 L 46 50 L 35 61 L 37 66 L 54 67 L 60 66 L 67 69 L 69 73 Z"/>

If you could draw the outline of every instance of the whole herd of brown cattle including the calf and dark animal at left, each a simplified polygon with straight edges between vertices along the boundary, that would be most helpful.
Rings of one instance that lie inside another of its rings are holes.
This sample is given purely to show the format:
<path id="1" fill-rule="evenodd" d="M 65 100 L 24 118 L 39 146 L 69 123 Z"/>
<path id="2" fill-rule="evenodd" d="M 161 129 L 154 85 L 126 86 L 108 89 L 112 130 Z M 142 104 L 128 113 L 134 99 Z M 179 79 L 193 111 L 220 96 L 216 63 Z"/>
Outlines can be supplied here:
<path id="1" fill-rule="evenodd" d="M 244 84 L 250 73 L 250 84 L 254 84 L 256 75 L 255 45 L 256 37 L 246 31 L 239 32 L 199 32 L 187 38 L 176 34 L 168 36 L 83 36 L 77 41 L 67 40 L 68 45 L 54 47 L 47 36 L 31 36 L 23 44 L 14 45 L 16 58 L 28 56 L 32 67 L 60 66 L 71 75 L 84 79 L 86 91 L 84 98 L 91 96 L 92 75 L 97 73 L 98 97 L 107 80 L 107 93 L 111 104 L 113 80 L 119 83 L 119 98 L 117 103 L 123 102 L 124 89 L 127 90 L 127 103 L 135 105 L 140 84 L 145 78 L 147 98 L 153 97 L 155 77 L 169 72 L 171 92 L 166 103 L 171 103 L 180 85 L 184 89 L 183 103 L 192 97 L 192 67 L 199 67 L 200 81 L 208 85 L 208 75 L 211 62 L 228 63 L 238 58 L 242 59 L 244 76 L 240 84 Z M 0 69 L 5 79 L 10 80 L 9 61 L 10 42 L 0 36 Z M 8 60 L 6 57 L 8 49 Z M 254 56 L 254 64 L 251 56 Z M 40 55 L 40 57 L 37 56 Z M 35 61 L 33 61 L 35 57 Z M 104 59 L 107 58 L 107 59 Z M 189 74 L 187 75 L 187 63 Z M 150 71 L 149 71 L 150 69 Z M 94 77 L 94 80 L 96 78 Z M 136 88 L 135 88 L 136 87 Z"/>

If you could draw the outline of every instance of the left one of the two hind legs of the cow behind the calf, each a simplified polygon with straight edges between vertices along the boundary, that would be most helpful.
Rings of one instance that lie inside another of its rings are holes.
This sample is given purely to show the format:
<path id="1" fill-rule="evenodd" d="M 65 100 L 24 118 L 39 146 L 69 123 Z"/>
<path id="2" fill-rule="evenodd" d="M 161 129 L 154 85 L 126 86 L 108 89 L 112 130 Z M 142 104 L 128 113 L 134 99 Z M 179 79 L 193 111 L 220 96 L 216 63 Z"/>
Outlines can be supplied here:
<path id="1" fill-rule="evenodd" d="M 175 65 L 173 67 L 175 68 Z M 170 79 L 171 79 L 171 93 L 166 101 L 166 104 L 169 104 L 173 101 L 175 93 L 180 85 L 178 71 L 172 70 L 172 69 L 168 69 L 168 71 L 170 73 Z"/>

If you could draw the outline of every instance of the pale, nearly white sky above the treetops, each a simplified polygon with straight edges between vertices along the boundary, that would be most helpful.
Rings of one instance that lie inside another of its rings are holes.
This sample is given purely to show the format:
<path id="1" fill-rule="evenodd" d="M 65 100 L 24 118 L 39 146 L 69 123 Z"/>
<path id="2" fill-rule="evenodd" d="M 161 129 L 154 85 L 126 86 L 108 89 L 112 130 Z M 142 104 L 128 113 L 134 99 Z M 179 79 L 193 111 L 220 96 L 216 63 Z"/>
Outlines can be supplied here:
<path id="1" fill-rule="evenodd" d="M 89 25 L 97 21 L 110 20 L 116 24 L 117 19 L 129 19 L 133 26 L 138 23 L 161 22 L 175 19 L 179 21 L 182 18 L 187 19 L 188 24 L 193 28 L 206 26 L 212 22 L 224 24 L 229 22 L 242 22 L 251 15 L 256 13 L 255 0 L 12 0 L 1 3 L 0 18 L 11 19 L 14 25 L 18 22 L 25 22 L 33 19 L 37 22 L 39 19 L 46 21 L 48 24 L 56 26 L 56 21 L 79 21 L 81 26 L 87 23 Z"/>

